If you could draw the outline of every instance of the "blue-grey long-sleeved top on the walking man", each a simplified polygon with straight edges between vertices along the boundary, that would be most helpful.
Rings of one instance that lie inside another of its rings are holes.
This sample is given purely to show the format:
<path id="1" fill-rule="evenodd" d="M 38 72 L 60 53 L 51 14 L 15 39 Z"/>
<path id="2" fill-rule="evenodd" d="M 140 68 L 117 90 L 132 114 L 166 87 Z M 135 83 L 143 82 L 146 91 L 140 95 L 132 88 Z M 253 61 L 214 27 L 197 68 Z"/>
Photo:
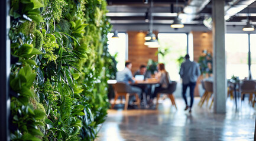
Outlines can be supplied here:
<path id="1" fill-rule="evenodd" d="M 198 76 L 201 74 L 199 65 L 196 62 L 192 62 L 187 59 L 180 66 L 180 77 L 182 78 L 183 84 L 190 82 L 196 82 Z"/>

